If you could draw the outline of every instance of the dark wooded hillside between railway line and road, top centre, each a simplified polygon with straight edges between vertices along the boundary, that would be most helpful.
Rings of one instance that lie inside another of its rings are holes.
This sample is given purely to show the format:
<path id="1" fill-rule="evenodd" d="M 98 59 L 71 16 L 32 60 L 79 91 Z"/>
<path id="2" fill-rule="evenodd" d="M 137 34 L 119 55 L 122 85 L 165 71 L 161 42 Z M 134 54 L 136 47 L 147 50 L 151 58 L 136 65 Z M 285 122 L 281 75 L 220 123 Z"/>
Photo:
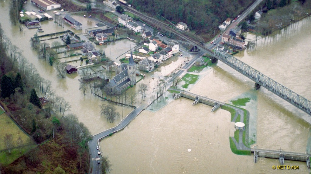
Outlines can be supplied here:
<path id="1" fill-rule="evenodd" d="M 211 32 L 228 17 L 235 18 L 252 0 L 130 0 L 138 11 L 162 16 L 172 23 L 185 22 L 197 32 Z"/>

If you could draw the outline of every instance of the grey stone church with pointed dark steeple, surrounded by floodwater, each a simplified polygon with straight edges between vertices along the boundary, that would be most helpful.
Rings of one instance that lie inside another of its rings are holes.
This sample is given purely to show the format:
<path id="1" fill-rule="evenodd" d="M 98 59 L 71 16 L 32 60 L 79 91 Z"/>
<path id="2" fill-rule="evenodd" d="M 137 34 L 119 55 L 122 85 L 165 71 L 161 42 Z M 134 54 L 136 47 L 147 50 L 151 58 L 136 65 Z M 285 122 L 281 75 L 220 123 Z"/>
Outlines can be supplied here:
<path id="1" fill-rule="evenodd" d="M 120 95 L 128 86 L 136 85 L 136 63 L 132 51 L 129 63 L 119 65 L 116 74 L 105 87 L 107 95 Z"/>

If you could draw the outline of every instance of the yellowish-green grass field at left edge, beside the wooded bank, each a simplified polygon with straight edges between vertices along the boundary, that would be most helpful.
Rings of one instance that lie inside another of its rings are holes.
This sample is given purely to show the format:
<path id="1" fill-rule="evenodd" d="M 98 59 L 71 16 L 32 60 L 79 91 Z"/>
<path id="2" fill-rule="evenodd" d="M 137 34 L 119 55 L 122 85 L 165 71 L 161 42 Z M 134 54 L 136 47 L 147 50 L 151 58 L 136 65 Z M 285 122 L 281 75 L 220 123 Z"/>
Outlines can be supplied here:
<path id="1" fill-rule="evenodd" d="M 21 136 L 23 144 L 29 144 L 28 135 L 24 133 L 6 114 L 0 115 L 0 125 L 0 150 L 6 149 L 3 141 L 6 133 L 13 135 L 13 147 L 16 146 L 16 140 L 19 136 Z M 32 144 L 34 144 L 34 142 L 32 142 Z M 7 150 L 0 151 L 0 163 L 3 163 L 4 165 L 12 163 L 14 160 L 16 160 L 17 158 L 28 152 L 31 148 L 33 148 L 33 146 L 22 147 L 21 154 L 18 148 L 12 148 L 11 154 L 9 154 Z"/>

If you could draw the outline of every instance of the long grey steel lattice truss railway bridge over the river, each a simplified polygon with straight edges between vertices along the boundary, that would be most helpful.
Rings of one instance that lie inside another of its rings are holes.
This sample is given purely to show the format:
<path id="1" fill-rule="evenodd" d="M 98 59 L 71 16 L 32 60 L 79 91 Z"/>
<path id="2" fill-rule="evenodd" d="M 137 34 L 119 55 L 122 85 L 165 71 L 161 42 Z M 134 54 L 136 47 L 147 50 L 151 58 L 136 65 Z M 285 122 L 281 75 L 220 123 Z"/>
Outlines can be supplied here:
<path id="1" fill-rule="evenodd" d="M 268 76 L 263 75 L 261 72 L 222 50 L 214 50 L 214 57 L 311 115 L 311 102 L 306 98 L 277 83 Z"/>

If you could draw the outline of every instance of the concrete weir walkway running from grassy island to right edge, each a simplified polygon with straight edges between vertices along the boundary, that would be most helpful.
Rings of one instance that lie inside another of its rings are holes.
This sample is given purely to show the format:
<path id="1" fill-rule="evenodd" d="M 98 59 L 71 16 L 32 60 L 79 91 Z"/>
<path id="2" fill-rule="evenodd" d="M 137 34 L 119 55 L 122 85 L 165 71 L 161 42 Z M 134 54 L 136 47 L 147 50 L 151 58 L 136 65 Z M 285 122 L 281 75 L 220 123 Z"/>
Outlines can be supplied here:
<path id="1" fill-rule="evenodd" d="M 257 162 L 257 157 L 275 158 L 279 159 L 281 165 L 284 164 L 284 159 L 294 161 L 307 162 L 308 168 L 310 168 L 310 155 L 301 152 L 283 151 L 283 150 L 271 150 L 271 149 L 259 149 L 251 148 L 251 152 L 254 154 L 254 163 Z"/>

